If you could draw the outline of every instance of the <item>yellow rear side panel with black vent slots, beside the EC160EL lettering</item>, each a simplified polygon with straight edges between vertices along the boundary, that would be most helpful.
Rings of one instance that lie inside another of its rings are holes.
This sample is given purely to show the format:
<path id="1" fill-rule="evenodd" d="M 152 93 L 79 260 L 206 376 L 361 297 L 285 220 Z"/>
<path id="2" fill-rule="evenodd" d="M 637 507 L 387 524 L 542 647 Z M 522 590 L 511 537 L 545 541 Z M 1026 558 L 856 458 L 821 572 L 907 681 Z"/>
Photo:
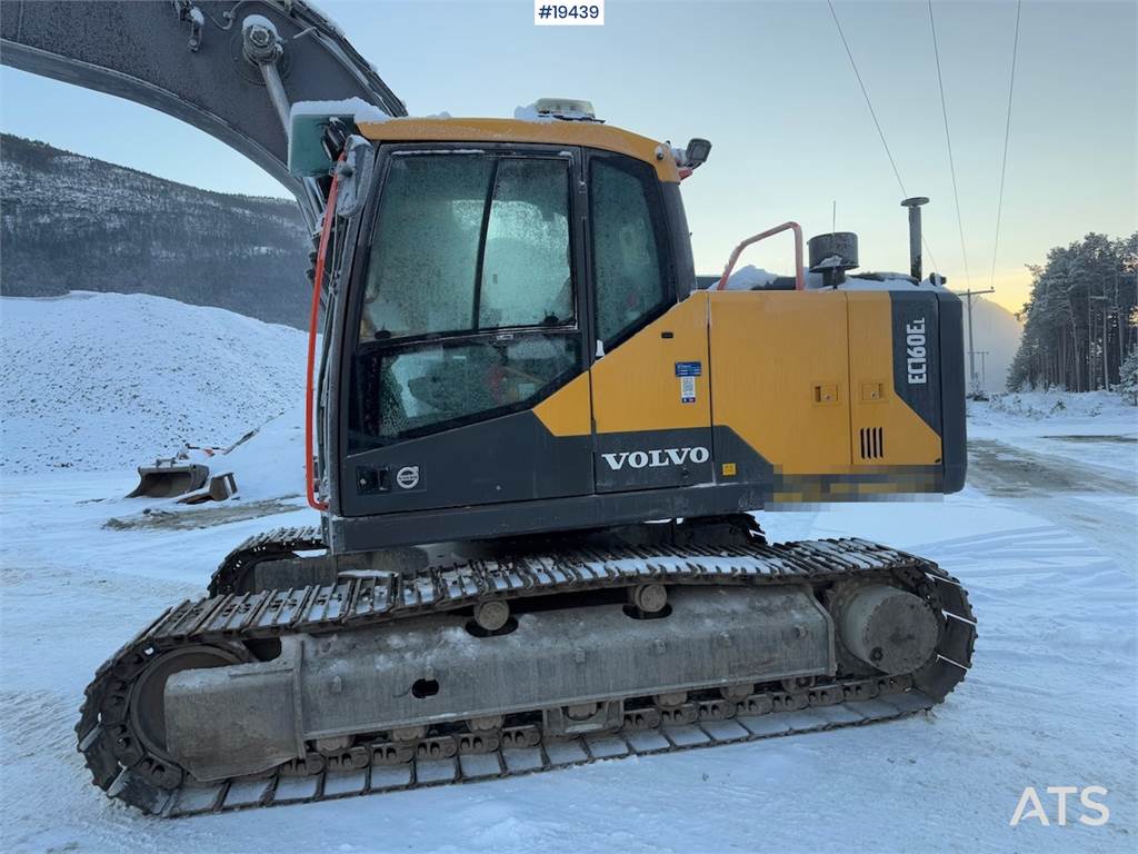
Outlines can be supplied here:
<path id="1" fill-rule="evenodd" d="M 931 466 L 940 436 L 893 388 L 892 307 L 885 291 L 848 291 L 850 436 L 855 466 Z M 861 455 L 860 432 L 880 430 L 883 453 Z"/>

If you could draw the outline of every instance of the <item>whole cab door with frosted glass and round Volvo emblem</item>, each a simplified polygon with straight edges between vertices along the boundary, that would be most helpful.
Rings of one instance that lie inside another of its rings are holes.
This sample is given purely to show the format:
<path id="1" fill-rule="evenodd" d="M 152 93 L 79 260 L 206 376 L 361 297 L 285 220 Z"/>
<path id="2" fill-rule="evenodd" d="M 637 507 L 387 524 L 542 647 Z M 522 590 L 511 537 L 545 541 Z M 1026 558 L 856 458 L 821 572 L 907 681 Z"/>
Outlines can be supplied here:
<path id="1" fill-rule="evenodd" d="M 341 516 L 593 492 L 578 164 L 380 149 L 340 362 Z"/>

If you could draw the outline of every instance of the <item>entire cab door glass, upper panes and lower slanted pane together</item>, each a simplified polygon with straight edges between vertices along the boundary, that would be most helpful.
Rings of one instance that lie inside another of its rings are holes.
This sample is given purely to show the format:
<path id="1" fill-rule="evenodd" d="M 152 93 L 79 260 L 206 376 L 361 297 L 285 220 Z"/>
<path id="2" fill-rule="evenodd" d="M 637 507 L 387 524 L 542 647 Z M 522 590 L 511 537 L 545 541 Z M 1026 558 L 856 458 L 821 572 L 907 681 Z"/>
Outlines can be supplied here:
<path id="1" fill-rule="evenodd" d="M 390 156 L 349 452 L 523 409 L 582 370 L 569 187 L 562 157 Z"/>

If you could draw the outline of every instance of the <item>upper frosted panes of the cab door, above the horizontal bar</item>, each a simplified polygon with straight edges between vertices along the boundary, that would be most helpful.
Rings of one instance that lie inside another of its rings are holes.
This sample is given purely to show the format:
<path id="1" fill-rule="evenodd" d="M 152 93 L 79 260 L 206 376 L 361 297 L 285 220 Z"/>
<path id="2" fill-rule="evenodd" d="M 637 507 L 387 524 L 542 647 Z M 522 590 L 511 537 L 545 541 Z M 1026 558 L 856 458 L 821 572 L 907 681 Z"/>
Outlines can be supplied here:
<path id="1" fill-rule="evenodd" d="M 575 322 L 569 162 L 393 155 L 361 344 Z"/>

